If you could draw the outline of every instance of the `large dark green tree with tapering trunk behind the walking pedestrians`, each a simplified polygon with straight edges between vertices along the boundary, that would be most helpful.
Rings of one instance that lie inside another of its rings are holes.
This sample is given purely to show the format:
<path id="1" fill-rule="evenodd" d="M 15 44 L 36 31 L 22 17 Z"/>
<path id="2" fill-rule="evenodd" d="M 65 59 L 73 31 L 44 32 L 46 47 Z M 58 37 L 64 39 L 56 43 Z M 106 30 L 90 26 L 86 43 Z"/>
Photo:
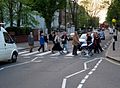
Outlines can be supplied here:
<path id="1" fill-rule="evenodd" d="M 64 8 L 65 0 L 22 0 L 24 4 L 31 7 L 32 10 L 38 11 L 45 19 L 48 32 L 51 31 L 51 23 L 53 21 L 54 13 Z"/>

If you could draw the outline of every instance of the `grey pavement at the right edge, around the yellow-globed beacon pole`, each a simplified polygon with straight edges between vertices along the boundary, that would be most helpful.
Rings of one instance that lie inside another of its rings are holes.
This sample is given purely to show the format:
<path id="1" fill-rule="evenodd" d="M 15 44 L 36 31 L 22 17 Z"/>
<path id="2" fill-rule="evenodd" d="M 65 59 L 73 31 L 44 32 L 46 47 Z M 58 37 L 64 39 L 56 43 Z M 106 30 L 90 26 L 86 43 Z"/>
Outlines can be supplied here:
<path id="1" fill-rule="evenodd" d="M 106 57 L 115 61 L 120 62 L 120 32 L 118 33 L 117 41 L 115 42 L 115 51 L 113 51 L 113 42 L 111 42 Z"/>

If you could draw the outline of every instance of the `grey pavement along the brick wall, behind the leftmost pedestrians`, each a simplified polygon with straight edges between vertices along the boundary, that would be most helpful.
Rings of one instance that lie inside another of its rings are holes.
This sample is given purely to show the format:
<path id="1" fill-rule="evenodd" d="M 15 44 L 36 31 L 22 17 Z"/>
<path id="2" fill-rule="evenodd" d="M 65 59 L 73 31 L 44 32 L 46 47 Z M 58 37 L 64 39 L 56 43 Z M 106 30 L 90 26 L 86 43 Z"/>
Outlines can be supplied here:
<path id="1" fill-rule="evenodd" d="M 24 50 L 24 49 L 28 49 L 28 43 L 16 43 L 18 50 Z M 35 41 L 34 42 L 34 47 L 38 47 L 39 46 L 39 41 Z"/>

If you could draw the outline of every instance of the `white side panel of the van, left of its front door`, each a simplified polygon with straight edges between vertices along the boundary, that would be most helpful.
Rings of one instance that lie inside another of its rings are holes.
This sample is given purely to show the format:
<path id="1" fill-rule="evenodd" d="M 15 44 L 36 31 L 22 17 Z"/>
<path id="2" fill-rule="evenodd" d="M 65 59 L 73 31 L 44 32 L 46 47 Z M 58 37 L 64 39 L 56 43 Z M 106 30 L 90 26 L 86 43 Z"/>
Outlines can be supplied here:
<path id="1" fill-rule="evenodd" d="M 0 32 L 0 61 L 4 60 L 6 57 L 5 47 L 4 47 L 4 37 L 3 32 Z"/>

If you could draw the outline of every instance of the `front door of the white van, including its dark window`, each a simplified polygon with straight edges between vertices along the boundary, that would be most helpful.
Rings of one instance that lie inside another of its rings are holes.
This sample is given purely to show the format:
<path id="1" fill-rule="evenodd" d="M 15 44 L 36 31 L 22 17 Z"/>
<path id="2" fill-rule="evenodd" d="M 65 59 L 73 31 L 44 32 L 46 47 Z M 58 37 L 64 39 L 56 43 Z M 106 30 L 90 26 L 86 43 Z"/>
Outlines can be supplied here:
<path id="1" fill-rule="evenodd" d="M 4 47 L 5 47 L 5 52 L 6 52 L 6 58 L 10 59 L 11 53 L 15 48 L 14 41 L 7 32 L 3 32 L 3 35 L 4 35 L 4 40 L 5 40 Z"/>

